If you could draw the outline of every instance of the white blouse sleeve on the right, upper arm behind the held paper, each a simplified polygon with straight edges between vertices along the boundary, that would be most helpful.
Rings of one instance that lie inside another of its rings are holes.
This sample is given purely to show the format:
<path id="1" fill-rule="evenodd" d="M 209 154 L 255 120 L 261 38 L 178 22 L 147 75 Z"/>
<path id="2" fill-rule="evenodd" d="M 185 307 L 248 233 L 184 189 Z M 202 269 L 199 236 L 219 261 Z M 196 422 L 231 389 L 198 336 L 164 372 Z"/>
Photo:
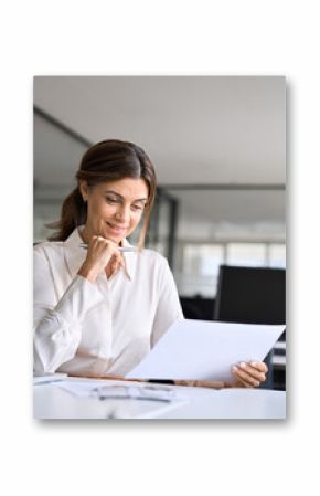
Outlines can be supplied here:
<path id="1" fill-rule="evenodd" d="M 183 318 L 178 289 L 168 261 L 162 258 L 159 274 L 159 300 L 152 326 L 151 347 L 163 336 L 175 320 Z"/>

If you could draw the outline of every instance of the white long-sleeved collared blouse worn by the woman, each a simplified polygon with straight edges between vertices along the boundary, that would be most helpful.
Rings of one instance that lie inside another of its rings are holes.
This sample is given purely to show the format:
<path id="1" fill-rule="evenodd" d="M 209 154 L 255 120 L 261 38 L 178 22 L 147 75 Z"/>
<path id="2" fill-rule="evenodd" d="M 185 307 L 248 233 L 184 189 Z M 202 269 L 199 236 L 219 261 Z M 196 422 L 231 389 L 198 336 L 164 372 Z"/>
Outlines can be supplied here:
<path id="1" fill-rule="evenodd" d="M 125 376 L 183 318 L 173 276 L 162 255 L 142 250 L 92 284 L 77 275 L 82 242 L 76 229 L 34 246 L 34 370 Z"/>

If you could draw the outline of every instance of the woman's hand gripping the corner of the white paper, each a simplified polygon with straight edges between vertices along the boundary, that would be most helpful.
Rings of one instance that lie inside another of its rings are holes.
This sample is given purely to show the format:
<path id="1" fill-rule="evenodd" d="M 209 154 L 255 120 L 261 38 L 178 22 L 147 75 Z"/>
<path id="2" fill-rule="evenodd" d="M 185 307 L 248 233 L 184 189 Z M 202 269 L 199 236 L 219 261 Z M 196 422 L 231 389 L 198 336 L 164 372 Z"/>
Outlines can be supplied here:
<path id="1" fill-rule="evenodd" d="M 236 379 L 234 384 L 227 384 L 231 388 L 257 388 L 266 380 L 268 367 L 264 361 L 242 361 L 232 367 L 232 373 Z"/>

